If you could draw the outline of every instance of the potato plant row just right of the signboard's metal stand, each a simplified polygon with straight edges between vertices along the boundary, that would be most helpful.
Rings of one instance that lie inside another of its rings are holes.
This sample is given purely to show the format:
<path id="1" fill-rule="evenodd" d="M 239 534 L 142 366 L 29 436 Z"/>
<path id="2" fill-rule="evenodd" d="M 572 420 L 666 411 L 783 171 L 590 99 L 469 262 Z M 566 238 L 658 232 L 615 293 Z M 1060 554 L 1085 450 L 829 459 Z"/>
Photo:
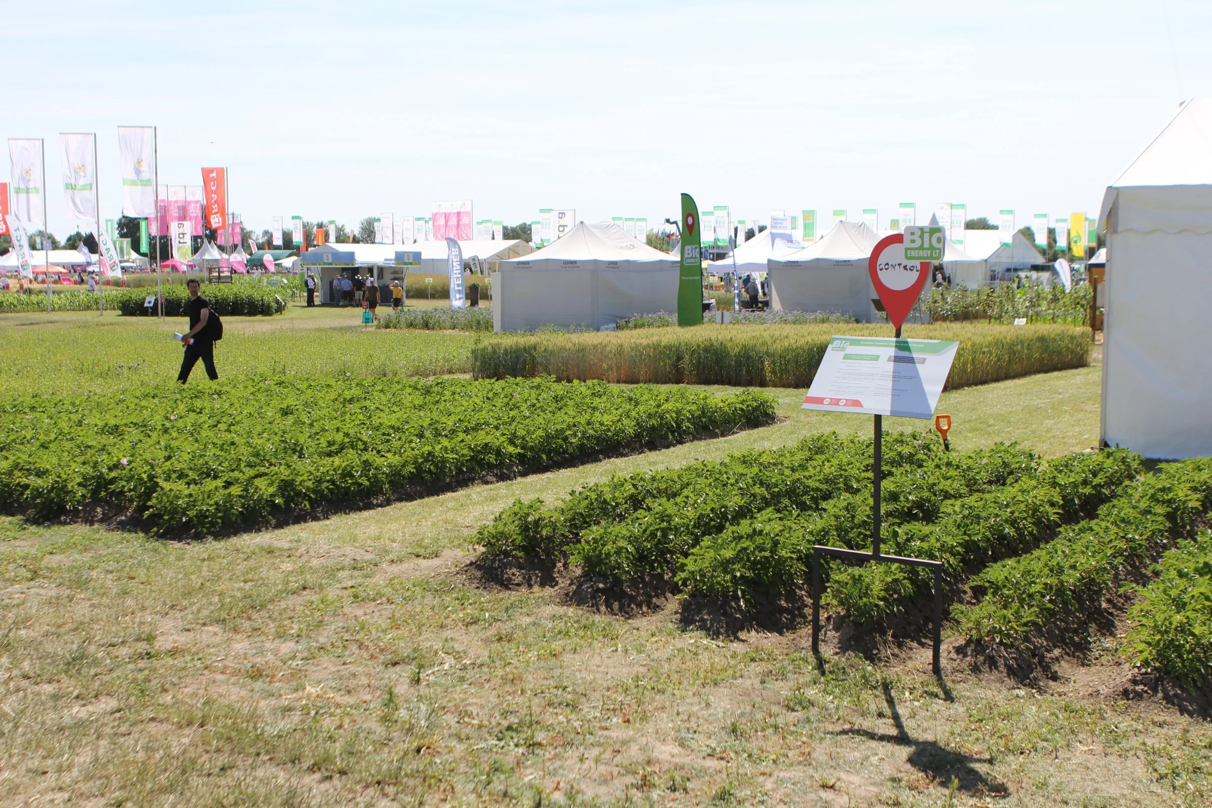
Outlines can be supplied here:
<path id="1" fill-rule="evenodd" d="M 1058 620 L 1098 609 L 1130 572 L 1194 534 L 1210 511 L 1212 458 L 1162 465 L 1124 487 L 1096 518 L 987 567 L 971 580 L 979 602 L 956 606 L 951 617 L 971 641 L 1028 646 Z"/>

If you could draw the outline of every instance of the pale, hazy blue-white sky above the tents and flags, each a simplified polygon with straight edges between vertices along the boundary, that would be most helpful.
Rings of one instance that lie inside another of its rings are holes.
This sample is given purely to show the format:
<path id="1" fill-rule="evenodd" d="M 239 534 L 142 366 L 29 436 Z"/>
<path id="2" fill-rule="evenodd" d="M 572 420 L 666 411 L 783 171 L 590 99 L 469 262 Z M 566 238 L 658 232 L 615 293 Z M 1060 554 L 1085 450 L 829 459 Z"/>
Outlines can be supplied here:
<path id="1" fill-rule="evenodd" d="M 656 223 L 684 190 L 736 218 L 950 201 L 1022 227 L 1097 213 L 1212 94 L 1206 1 L 13 6 L 0 134 L 46 138 L 55 189 L 58 133 L 97 132 L 107 218 L 116 127 L 155 125 L 160 182 L 225 165 L 257 229 L 468 197 Z"/>

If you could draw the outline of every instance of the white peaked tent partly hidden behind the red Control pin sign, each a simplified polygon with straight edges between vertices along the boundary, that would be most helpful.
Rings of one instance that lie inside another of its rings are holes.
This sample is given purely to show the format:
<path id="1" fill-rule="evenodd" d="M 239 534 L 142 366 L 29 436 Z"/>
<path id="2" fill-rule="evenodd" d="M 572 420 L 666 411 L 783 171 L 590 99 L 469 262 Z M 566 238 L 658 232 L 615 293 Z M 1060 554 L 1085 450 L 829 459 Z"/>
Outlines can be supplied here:
<path id="1" fill-rule="evenodd" d="M 879 242 L 869 227 L 839 222 L 794 257 L 767 262 L 771 306 L 787 311 L 836 311 L 859 322 L 880 322 L 871 303 L 868 259 Z M 928 283 L 927 283 L 928 290 Z"/>

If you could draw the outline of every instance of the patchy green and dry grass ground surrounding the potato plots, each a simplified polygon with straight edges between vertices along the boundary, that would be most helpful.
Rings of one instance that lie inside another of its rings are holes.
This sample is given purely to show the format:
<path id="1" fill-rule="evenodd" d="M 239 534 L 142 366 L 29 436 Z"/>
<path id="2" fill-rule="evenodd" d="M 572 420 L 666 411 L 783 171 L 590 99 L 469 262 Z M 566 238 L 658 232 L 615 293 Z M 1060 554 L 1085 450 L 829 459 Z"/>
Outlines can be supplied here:
<path id="1" fill-rule="evenodd" d="M 474 337 L 356 317 L 228 319 L 221 373 L 467 372 Z M 171 383 L 173 329 L 0 317 L 0 392 Z M 956 451 L 1081 451 L 1099 372 L 939 411 Z M 955 638 L 942 681 L 914 646 L 822 672 L 802 628 L 719 638 L 676 601 L 596 613 L 465 568 L 514 498 L 870 430 L 768 392 L 772 426 L 223 540 L 0 518 L 0 804 L 1206 808 L 1212 728 L 1131 690 L 1114 632 L 1034 687 L 974 672 Z"/>

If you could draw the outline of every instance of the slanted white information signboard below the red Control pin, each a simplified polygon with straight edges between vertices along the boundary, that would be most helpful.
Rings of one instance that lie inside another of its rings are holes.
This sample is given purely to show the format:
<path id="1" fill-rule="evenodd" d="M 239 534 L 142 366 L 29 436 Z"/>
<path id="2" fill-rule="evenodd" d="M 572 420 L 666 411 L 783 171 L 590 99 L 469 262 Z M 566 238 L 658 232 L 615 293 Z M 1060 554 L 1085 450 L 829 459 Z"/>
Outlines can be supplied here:
<path id="1" fill-rule="evenodd" d="M 833 337 L 804 409 L 931 418 L 956 342 Z"/>

